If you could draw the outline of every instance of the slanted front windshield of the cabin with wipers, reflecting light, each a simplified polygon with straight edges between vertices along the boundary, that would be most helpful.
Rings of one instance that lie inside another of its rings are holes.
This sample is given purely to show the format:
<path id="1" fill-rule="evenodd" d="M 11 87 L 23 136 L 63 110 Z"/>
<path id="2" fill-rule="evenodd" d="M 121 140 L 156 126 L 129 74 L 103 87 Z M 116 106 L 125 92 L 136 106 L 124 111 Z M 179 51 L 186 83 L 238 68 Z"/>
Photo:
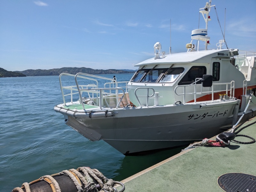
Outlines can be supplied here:
<path id="1" fill-rule="evenodd" d="M 132 82 L 173 83 L 184 71 L 184 68 L 154 68 L 137 71 Z"/>

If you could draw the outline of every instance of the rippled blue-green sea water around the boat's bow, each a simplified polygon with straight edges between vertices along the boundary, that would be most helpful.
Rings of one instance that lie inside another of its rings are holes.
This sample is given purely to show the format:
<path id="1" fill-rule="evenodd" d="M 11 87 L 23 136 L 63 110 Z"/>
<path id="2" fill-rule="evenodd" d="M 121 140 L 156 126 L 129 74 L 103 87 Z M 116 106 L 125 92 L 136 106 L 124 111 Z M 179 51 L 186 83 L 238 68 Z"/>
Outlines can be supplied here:
<path id="1" fill-rule="evenodd" d="M 115 74 L 129 81 L 133 74 Z M 113 75 L 102 75 L 113 78 Z M 66 79 L 73 82 L 74 77 Z M 124 156 L 106 142 L 91 142 L 64 123 L 59 76 L 0 78 L 0 191 L 66 169 L 89 166 L 121 181 L 180 152 Z"/>

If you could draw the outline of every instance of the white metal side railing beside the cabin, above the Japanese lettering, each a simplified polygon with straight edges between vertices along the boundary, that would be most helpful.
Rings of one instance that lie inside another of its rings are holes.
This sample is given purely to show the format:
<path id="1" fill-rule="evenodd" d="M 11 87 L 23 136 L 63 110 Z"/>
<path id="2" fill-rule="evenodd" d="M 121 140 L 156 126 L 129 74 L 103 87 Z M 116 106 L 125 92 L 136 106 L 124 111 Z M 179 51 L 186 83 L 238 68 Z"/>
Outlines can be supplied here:
<path id="1" fill-rule="evenodd" d="M 231 81 L 230 83 L 216 83 L 216 84 L 212 84 L 212 91 L 206 91 L 206 92 L 203 92 L 203 84 L 196 84 L 196 82 L 202 80 L 202 78 L 196 78 L 196 81 L 192 84 L 189 84 L 189 85 L 178 85 L 175 87 L 174 89 L 174 93 L 176 95 L 183 95 L 183 103 L 186 103 L 185 100 L 186 100 L 186 95 L 194 95 L 194 102 L 196 103 L 196 95 L 201 95 L 203 93 L 212 93 L 212 101 L 213 101 L 213 96 L 214 96 L 214 93 L 215 92 L 224 92 L 226 91 L 226 95 L 228 95 L 228 91 L 230 91 L 230 97 L 233 98 L 234 95 L 235 95 L 235 81 Z M 217 86 L 217 85 L 226 85 L 226 89 L 225 90 L 217 90 L 217 91 L 214 91 L 214 87 Z M 228 88 L 230 86 L 230 89 Z M 183 92 L 182 93 L 177 93 L 177 89 L 180 88 L 180 87 L 183 87 Z M 186 88 L 187 87 L 194 87 L 194 92 L 186 92 Z M 200 92 L 196 92 L 196 89 L 199 88 L 200 89 Z"/>

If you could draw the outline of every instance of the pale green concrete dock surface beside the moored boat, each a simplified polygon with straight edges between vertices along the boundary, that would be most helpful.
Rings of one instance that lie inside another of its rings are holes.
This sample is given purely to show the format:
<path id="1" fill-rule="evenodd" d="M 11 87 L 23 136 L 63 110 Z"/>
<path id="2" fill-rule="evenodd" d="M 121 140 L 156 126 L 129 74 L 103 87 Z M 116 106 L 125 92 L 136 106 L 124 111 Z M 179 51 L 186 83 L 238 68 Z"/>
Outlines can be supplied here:
<path id="1" fill-rule="evenodd" d="M 255 121 L 256 117 L 236 130 Z M 256 138 L 256 124 L 238 134 Z M 235 140 L 252 141 L 246 137 L 236 137 Z M 226 147 L 188 149 L 121 182 L 125 185 L 125 192 L 223 191 L 217 180 L 222 174 L 232 172 L 256 175 L 256 143 L 231 142 Z"/>

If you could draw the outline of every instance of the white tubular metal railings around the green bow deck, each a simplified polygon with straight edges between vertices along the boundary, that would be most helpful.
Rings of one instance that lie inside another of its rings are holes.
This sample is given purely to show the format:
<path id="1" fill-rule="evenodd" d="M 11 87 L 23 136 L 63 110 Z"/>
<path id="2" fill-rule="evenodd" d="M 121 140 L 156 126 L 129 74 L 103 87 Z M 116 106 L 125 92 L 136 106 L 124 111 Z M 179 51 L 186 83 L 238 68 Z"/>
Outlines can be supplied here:
<path id="1" fill-rule="evenodd" d="M 62 76 L 74 76 L 76 85 L 62 86 L 62 82 L 61 82 L 61 77 Z M 78 80 L 77 80 L 78 77 L 82 78 L 82 79 L 93 81 L 94 83 L 93 84 L 87 84 L 87 85 L 78 84 Z M 99 79 L 99 80 L 108 80 L 108 81 L 111 81 L 111 82 L 105 83 L 104 88 L 99 88 L 98 87 L 99 82 L 98 82 L 97 79 Z M 68 74 L 68 73 L 62 73 L 59 76 L 59 80 L 60 80 L 60 89 L 61 89 L 64 105 L 66 105 L 65 97 L 70 96 L 70 102 L 73 103 L 73 95 L 79 94 L 79 102 L 82 104 L 84 110 L 85 110 L 85 108 L 84 108 L 84 102 L 83 102 L 83 97 L 82 97 L 83 93 L 84 94 L 87 93 L 87 96 L 88 96 L 89 99 L 99 100 L 99 107 L 100 107 L 100 109 L 102 109 L 103 99 L 106 99 L 106 98 L 107 99 L 115 98 L 116 99 L 116 108 L 119 107 L 119 105 L 120 105 L 120 103 L 121 103 L 121 101 L 124 97 L 125 92 L 124 92 L 124 89 L 123 89 L 124 86 L 123 87 L 118 87 L 118 83 L 126 83 L 125 84 L 125 90 L 127 92 L 127 82 L 117 82 L 116 79 L 110 79 L 110 78 L 107 78 L 107 77 L 95 76 L 95 75 L 90 75 L 90 74 L 86 74 L 86 73 L 77 73 L 76 75 L 72 75 L 72 74 Z M 106 87 L 106 85 L 109 85 L 109 88 Z M 63 90 L 69 90 L 70 92 L 68 94 L 64 94 Z M 114 93 L 113 93 L 113 91 L 114 91 Z M 121 93 L 122 96 L 118 96 L 118 95 L 120 95 L 120 93 Z M 118 102 L 118 99 L 120 99 L 119 102 Z"/>

